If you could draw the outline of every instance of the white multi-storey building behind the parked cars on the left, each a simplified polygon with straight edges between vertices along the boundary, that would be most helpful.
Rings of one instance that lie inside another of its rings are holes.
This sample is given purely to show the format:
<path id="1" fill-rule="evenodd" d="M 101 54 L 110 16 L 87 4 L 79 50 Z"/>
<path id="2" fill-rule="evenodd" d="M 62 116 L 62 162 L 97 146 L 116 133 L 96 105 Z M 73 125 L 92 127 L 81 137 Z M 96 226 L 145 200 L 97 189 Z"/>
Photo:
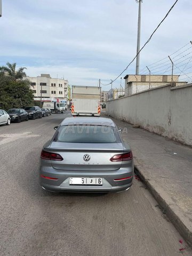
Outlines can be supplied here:
<path id="1" fill-rule="evenodd" d="M 40 101 L 67 101 L 68 81 L 65 79 L 51 78 L 50 74 L 41 74 L 37 77 L 27 76 L 31 82 L 31 90 L 34 92 L 34 100 Z M 41 90 L 42 88 L 42 90 Z"/>

